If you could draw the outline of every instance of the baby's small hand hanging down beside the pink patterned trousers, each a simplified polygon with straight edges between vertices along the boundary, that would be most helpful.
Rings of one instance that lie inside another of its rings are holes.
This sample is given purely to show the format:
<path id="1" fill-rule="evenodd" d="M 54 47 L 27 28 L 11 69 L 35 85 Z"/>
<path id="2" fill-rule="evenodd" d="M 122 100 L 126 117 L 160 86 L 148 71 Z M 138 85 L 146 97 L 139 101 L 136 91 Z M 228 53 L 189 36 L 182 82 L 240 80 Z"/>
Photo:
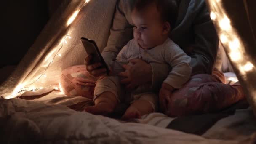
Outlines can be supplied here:
<path id="1" fill-rule="evenodd" d="M 171 93 L 174 88 L 167 83 L 163 83 L 159 92 L 160 109 L 165 112 L 168 108 L 168 104 L 171 102 Z"/>

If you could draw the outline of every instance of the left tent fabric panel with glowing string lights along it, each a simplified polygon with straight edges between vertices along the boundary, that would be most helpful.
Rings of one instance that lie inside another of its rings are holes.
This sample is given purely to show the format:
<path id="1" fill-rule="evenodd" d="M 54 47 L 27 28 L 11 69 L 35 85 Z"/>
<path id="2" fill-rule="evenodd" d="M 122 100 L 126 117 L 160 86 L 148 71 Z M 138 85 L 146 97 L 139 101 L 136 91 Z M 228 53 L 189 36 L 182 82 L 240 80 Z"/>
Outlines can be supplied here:
<path id="1" fill-rule="evenodd" d="M 65 0 L 61 3 L 13 74 L 0 85 L 0 96 L 8 98 L 13 91 L 16 94 L 22 88 L 58 86 L 63 69 L 84 62 L 86 53 L 80 37 L 95 40 L 100 50 L 105 47 L 115 3 L 116 0 Z M 75 19 L 68 25 L 72 17 Z"/>

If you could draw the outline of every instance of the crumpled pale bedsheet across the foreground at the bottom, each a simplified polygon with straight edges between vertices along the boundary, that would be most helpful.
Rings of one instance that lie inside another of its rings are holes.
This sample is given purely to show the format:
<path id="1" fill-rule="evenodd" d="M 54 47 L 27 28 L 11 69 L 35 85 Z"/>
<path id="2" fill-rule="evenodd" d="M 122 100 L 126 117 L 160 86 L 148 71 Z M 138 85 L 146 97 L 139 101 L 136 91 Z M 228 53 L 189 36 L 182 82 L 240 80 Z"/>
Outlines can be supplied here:
<path id="1" fill-rule="evenodd" d="M 248 139 L 250 141 L 250 139 Z M 0 99 L 0 144 L 244 144 L 76 112 L 61 105 Z"/>

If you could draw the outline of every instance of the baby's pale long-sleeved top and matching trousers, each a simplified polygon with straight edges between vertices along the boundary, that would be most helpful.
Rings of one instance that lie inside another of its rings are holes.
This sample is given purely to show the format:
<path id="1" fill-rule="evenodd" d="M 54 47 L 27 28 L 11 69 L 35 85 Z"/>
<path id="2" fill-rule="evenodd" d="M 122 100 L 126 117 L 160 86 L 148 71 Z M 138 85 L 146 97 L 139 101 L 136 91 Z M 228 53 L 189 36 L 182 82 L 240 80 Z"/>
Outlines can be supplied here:
<path id="1" fill-rule="evenodd" d="M 115 94 L 119 102 L 129 102 L 131 104 L 137 99 L 144 99 L 149 101 L 153 109 L 156 110 L 158 107 L 158 88 L 153 88 L 151 83 L 147 83 L 128 93 L 123 90 L 123 86 L 120 84 L 120 77 L 117 74 L 124 71 L 121 65 L 129 64 L 128 60 L 136 58 L 142 59 L 149 64 L 168 64 L 171 72 L 169 72 L 168 77 L 163 82 L 171 85 L 173 88 L 181 88 L 191 75 L 191 67 L 189 66 L 191 58 L 170 38 L 165 40 L 163 44 L 151 49 L 141 48 L 136 40 L 132 39 L 118 53 L 116 60 L 112 62 L 110 69 L 114 75 L 97 81 L 94 99 L 101 93 L 110 91 Z M 160 87 L 161 84 L 157 85 Z"/>

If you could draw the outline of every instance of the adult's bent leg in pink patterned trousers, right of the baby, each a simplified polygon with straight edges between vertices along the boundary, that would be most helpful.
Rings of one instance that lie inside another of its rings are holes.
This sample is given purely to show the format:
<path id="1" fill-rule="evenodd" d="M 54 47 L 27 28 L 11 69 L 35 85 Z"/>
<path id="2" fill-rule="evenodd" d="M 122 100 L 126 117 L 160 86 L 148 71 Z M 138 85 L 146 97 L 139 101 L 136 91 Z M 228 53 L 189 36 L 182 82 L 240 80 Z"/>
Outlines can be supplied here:
<path id="1" fill-rule="evenodd" d="M 172 93 L 165 114 L 170 117 L 217 112 L 245 98 L 240 85 L 224 84 L 224 75 L 197 74 Z"/>

